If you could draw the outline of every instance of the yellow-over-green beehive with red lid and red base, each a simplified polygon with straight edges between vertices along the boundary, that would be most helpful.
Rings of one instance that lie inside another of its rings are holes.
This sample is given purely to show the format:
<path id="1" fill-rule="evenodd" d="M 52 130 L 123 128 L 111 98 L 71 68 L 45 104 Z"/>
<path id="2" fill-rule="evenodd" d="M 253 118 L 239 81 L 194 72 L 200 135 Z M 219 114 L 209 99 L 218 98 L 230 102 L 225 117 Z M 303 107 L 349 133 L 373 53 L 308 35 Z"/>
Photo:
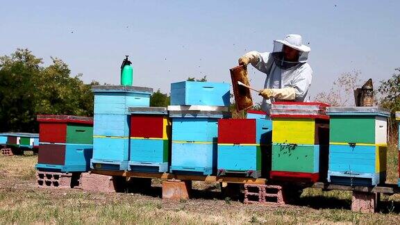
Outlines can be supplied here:
<path id="1" fill-rule="evenodd" d="M 329 120 L 324 103 L 272 105 L 273 180 L 324 181 L 328 165 Z"/>

